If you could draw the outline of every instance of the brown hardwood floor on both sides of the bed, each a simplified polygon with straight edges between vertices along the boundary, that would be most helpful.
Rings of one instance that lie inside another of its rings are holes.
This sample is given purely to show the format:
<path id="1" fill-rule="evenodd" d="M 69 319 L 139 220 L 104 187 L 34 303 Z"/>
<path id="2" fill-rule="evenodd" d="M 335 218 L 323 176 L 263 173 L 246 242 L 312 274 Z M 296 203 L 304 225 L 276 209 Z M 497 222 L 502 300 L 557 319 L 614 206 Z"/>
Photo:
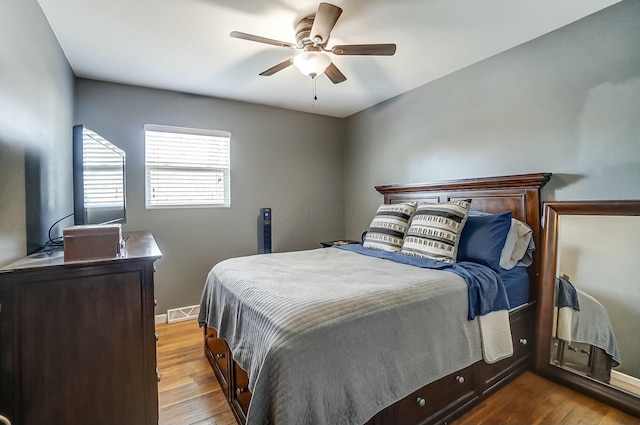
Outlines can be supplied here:
<path id="1" fill-rule="evenodd" d="M 160 425 L 235 425 L 204 357 L 194 320 L 156 325 Z M 462 424 L 638 424 L 609 405 L 526 372 L 454 422 Z M 336 424 L 339 425 L 339 424 Z"/>

